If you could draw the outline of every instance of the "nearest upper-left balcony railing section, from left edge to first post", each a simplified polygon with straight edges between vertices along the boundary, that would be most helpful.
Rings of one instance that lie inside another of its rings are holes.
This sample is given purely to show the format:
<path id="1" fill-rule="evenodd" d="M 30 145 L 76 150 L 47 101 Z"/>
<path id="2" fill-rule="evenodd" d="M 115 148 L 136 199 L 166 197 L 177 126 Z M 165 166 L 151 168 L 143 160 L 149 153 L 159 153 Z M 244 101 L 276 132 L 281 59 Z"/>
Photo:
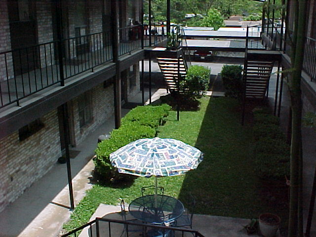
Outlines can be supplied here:
<path id="1" fill-rule="evenodd" d="M 56 41 L 0 53 L 1 107 L 61 82 Z"/>

